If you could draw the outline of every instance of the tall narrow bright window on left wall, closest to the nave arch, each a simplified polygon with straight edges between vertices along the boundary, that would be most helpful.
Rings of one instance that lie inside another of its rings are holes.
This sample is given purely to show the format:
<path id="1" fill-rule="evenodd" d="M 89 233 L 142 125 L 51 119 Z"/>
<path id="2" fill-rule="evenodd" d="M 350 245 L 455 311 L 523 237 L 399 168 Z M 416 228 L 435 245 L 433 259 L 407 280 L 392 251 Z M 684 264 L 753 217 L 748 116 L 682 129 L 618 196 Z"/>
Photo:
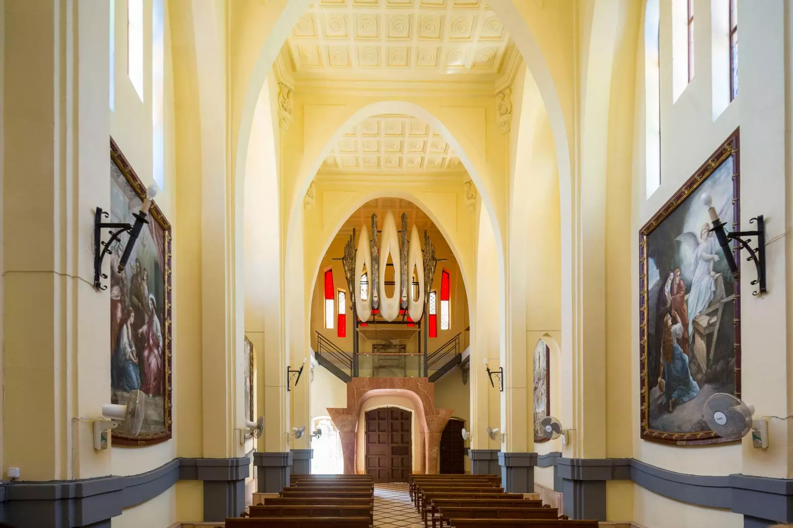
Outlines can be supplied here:
<path id="1" fill-rule="evenodd" d="M 151 2 L 151 174 L 165 187 L 165 136 L 163 125 L 163 75 L 165 64 L 163 0 Z"/>

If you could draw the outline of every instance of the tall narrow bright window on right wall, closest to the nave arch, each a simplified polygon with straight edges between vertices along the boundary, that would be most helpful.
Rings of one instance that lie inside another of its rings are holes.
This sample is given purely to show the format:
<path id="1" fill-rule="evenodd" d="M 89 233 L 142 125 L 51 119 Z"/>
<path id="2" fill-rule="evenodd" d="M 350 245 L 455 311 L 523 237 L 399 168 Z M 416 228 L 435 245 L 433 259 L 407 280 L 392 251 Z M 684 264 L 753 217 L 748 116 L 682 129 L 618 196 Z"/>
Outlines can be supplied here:
<path id="1" fill-rule="evenodd" d="M 661 186 L 661 63 L 658 0 L 648 0 L 645 13 L 645 161 L 646 196 Z"/>

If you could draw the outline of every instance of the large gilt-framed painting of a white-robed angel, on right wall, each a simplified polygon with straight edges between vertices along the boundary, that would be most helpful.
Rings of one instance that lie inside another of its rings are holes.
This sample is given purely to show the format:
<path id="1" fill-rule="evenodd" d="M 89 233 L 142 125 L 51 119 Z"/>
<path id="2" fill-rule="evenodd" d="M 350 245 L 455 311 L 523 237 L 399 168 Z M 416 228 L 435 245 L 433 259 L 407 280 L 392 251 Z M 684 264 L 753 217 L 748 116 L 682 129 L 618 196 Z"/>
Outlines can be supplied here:
<path id="1" fill-rule="evenodd" d="M 705 401 L 741 397 L 740 283 L 703 205 L 739 229 L 737 130 L 639 231 L 641 435 L 685 446 L 726 442 L 707 427 Z M 734 243 L 735 262 L 741 262 Z M 740 264 L 738 264 L 740 266 Z"/>

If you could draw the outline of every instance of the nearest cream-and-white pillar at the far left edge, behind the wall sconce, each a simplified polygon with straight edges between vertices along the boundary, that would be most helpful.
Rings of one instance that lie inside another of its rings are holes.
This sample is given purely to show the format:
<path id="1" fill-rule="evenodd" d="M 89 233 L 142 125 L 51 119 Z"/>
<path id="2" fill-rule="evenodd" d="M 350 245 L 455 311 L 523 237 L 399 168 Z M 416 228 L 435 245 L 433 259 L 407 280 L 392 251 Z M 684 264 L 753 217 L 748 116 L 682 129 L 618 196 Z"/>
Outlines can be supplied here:
<path id="1" fill-rule="evenodd" d="M 107 2 L 5 2 L 2 447 L 21 480 L 111 473 L 91 421 L 72 420 L 110 400 L 109 291 L 93 287 L 94 209 L 110 208 L 108 19 Z"/>

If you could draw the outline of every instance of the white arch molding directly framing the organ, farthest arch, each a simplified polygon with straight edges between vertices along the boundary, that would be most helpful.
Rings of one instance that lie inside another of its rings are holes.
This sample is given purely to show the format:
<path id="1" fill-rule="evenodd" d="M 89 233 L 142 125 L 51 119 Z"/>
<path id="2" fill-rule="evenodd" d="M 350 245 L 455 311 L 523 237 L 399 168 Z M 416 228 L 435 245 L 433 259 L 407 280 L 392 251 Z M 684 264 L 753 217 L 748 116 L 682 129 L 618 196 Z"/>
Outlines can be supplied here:
<path id="1" fill-rule="evenodd" d="M 473 274 L 473 270 L 468 270 L 468 267 L 465 262 L 462 261 L 460 258 L 460 252 L 454 242 L 454 238 L 450 236 L 450 232 L 446 229 L 446 227 L 440 222 L 438 219 L 438 215 L 435 214 L 435 211 L 427 206 L 421 199 L 416 196 L 416 194 L 411 193 L 405 189 L 398 189 L 394 187 L 393 190 L 385 190 L 385 189 L 377 189 L 376 191 L 372 191 L 371 193 L 361 194 L 354 201 L 351 202 L 351 205 L 347 207 L 347 209 L 339 212 L 339 216 L 335 220 L 335 224 L 332 224 L 330 228 L 328 228 L 328 235 L 325 237 L 322 250 L 317 254 L 317 258 L 315 262 L 308 262 L 308 269 L 311 270 L 312 275 L 309 277 L 314 277 L 314 281 L 312 282 L 312 287 L 308 292 L 308 306 L 312 305 L 313 297 L 314 297 L 314 290 L 316 289 L 316 281 L 318 280 L 319 273 L 320 273 L 320 266 L 322 266 L 322 259 L 324 258 L 325 254 L 328 253 L 328 248 L 331 247 L 331 243 L 333 243 L 333 239 L 335 239 L 336 233 L 339 232 L 339 229 L 342 228 L 344 223 L 347 221 L 348 218 L 361 208 L 362 205 L 366 204 L 367 201 L 376 200 L 377 198 L 401 198 L 403 200 L 411 201 L 413 204 L 417 205 L 419 209 L 421 209 L 427 216 L 429 216 L 432 223 L 441 231 L 441 235 L 444 239 L 446 239 L 446 243 L 449 244 L 449 248 L 451 253 L 454 255 L 454 258 L 457 260 L 458 267 L 460 268 L 460 274 L 462 276 L 462 284 L 465 287 L 465 298 L 468 302 L 468 312 L 471 313 L 471 302 L 473 300 L 472 286 L 470 284 L 469 277 L 475 277 Z M 397 214 L 397 211 L 394 212 Z M 378 218 L 377 223 L 381 224 L 382 219 Z M 410 226 L 408 226 L 409 228 Z M 368 226 L 367 226 L 368 228 Z M 356 236 L 358 233 L 356 233 Z M 357 241 L 356 241 L 357 243 Z M 473 262 L 472 262 L 473 264 Z M 437 272 L 436 272 L 437 274 Z M 371 284 L 371 283 L 370 283 Z M 370 286 L 371 287 L 371 286 Z M 427 314 L 423 313 L 422 317 L 426 317 Z"/>

